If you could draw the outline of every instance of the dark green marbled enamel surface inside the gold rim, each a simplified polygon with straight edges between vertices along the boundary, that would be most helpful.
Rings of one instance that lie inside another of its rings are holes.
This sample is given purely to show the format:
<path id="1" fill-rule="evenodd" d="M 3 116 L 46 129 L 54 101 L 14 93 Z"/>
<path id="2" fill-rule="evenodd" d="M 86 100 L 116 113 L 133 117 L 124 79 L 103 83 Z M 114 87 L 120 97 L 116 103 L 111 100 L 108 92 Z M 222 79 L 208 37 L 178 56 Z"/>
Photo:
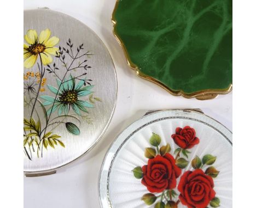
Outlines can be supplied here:
<path id="1" fill-rule="evenodd" d="M 232 83 L 231 0 L 119 0 L 114 19 L 132 62 L 172 90 Z"/>

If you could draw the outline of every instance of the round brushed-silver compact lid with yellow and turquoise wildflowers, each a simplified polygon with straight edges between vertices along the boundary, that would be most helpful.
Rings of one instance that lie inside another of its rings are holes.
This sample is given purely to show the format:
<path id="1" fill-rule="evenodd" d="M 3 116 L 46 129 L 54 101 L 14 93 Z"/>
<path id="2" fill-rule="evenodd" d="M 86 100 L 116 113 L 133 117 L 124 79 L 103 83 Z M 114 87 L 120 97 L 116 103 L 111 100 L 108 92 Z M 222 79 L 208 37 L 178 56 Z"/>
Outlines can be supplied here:
<path id="1" fill-rule="evenodd" d="M 24 11 L 24 172 L 74 161 L 101 138 L 117 99 L 113 60 L 73 17 Z"/>

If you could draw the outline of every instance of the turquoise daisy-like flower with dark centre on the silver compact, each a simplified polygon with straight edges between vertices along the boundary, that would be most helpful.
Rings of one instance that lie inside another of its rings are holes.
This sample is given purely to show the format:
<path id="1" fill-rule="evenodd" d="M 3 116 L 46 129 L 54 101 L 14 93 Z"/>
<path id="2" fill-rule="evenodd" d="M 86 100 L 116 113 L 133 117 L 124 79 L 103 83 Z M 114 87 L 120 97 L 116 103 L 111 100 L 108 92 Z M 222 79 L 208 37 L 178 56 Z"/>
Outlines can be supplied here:
<path id="1" fill-rule="evenodd" d="M 76 114 L 81 115 L 80 111 L 88 113 L 86 108 L 94 107 L 91 103 L 80 99 L 80 97 L 92 93 L 90 90 L 93 87 L 92 85 L 84 87 L 84 80 L 76 83 L 72 76 L 68 80 L 64 79 L 63 82 L 60 79 L 56 79 L 56 81 L 59 90 L 49 84 L 47 85 L 48 89 L 57 96 L 56 99 L 48 95 L 41 96 L 45 100 L 44 106 L 52 106 L 47 113 L 53 113 L 58 109 L 59 115 L 62 112 L 67 115 L 69 109 L 72 108 Z"/>

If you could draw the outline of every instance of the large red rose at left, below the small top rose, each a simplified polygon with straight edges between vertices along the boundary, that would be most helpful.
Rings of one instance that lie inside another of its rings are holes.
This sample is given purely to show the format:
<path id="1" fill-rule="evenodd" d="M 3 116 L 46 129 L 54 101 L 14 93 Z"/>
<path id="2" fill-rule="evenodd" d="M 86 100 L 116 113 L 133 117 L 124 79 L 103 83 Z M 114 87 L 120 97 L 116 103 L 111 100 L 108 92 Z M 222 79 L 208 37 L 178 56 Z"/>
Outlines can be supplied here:
<path id="1" fill-rule="evenodd" d="M 149 159 L 148 165 L 142 167 L 142 172 L 141 183 L 152 193 L 175 188 L 176 179 L 181 175 L 181 169 L 176 166 L 175 159 L 168 153 Z"/>

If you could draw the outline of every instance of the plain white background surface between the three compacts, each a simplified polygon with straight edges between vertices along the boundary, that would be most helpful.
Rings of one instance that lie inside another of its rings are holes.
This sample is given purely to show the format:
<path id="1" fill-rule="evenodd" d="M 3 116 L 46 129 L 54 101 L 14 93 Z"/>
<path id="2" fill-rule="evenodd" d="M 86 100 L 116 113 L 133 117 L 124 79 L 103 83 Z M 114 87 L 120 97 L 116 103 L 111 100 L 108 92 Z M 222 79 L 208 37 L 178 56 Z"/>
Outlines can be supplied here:
<path id="1" fill-rule="evenodd" d="M 39 178 L 24 178 L 26 208 L 100 208 L 98 174 L 110 143 L 147 109 L 201 108 L 232 130 L 232 93 L 210 101 L 172 96 L 157 85 L 136 76 L 112 33 L 110 20 L 115 0 L 25 0 L 24 9 L 48 7 L 84 22 L 103 40 L 114 60 L 118 77 L 118 101 L 113 120 L 101 141 L 84 157 Z"/>

